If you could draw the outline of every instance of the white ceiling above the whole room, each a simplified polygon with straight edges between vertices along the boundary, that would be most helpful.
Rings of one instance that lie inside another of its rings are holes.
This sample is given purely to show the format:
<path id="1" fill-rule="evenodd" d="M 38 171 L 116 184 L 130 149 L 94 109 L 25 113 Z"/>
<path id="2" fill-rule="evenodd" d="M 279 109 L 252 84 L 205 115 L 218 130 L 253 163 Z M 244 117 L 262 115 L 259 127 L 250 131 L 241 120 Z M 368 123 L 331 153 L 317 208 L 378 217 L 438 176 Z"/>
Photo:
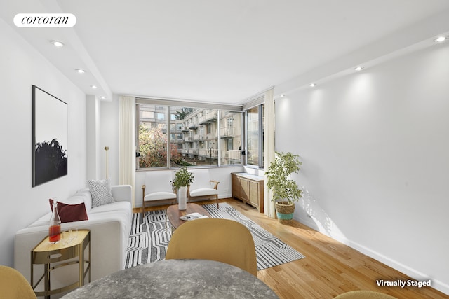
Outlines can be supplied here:
<path id="1" fill-rule="evenodd" d="M 0 1 L 0 17 L 31 46 L 86 94 L 108 99 L 242 104 L 449 32 L 448 0 Z M 72 13 L 76 25 L 19 28 L 17 13 Z"/>

